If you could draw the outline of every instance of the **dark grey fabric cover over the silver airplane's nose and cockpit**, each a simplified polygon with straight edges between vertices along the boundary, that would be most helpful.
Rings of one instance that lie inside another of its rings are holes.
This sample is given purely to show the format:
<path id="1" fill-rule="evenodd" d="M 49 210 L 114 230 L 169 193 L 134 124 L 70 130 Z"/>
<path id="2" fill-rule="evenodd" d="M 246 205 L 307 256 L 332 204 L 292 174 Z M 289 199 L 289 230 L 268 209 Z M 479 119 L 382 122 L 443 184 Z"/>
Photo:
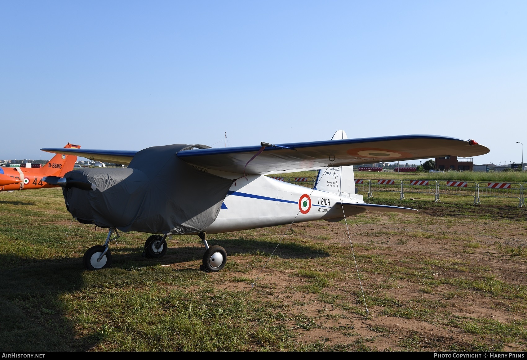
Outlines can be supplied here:
<path id="1" fill-rule="evenodd" d="M 101 228 L 196 234 L 218 216 L 230 179 L 198 170 L 177 157 L 189 145 L 155 146 L 135 154 L 128 168 L 73 170 L 64 177 L 97 189 L 64 188 L 68 211 Z"/>

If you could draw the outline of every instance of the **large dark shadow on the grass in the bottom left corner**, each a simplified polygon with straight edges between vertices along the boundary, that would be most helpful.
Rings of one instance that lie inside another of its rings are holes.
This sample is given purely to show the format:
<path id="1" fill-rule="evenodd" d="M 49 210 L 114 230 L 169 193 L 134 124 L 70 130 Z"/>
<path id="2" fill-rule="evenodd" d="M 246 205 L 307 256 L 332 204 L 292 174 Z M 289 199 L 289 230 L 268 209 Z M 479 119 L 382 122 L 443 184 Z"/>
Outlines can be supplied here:
<path id="1" fill-rule="evenodd" d="M 82 335 L 63 312 L 61 296 L 85 287 L 81 259 L 14 259 L 0 255 L 0 343 L 9 351 L 78 351 L 100 341 Z M 21 264 L 9 266 L 11 263 Z"/>

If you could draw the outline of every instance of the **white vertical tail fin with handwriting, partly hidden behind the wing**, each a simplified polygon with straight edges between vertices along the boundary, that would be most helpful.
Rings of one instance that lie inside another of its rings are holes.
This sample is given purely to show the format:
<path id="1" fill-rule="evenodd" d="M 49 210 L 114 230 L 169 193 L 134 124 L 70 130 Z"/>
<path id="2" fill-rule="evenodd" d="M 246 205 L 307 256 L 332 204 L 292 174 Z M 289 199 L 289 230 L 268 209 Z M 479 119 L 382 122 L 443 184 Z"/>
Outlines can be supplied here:
<path id="1" fill-rule="evenodd" d="M 344 130 L 338 130 L 331 140 L 347 139 Z M 355 174 L 353 166 L 328 167 L 318 170 L 316 189 L 327 191 L 328 193 L 340 193 L 347 196 L 355 194 Z"/>

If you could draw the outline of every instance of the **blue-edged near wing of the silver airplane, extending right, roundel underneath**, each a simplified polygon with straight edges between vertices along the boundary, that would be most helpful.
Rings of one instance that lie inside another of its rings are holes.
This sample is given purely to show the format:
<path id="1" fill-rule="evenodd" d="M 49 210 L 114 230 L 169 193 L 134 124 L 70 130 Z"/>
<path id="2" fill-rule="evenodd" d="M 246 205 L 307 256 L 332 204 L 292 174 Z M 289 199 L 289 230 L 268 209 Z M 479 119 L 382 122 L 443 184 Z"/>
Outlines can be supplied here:
<path id="1" fill-rule="evenodd" d="M 265 144 L 264 144 L 265 145 Z M 270 145 L 270 144 L 268 144 Z M 397 162 L 440 156 L 472 157 L 490 150 L 474 140 L 435 135 L 402 135 L 310 143 L 184 150 L 178 157 L 190 165 L 230 173 L 274 174 L 326 166 Z M 246 167 L 247 164 L 247 167 Z"/>

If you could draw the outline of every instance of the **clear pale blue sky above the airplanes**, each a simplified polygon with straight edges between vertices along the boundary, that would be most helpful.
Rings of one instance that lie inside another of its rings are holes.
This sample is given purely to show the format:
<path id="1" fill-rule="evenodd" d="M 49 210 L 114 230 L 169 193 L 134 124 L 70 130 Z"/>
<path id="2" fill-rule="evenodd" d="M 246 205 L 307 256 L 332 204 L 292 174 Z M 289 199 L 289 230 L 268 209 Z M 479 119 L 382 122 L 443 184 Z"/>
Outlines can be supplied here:
<path id="1" fill-rule="evenodd" d="M 476 163 L 519 162 L 526 15 L 524 1 L 1 2 L 0 159 L 344 129 L 475 139 L 491 149 Z"/>

